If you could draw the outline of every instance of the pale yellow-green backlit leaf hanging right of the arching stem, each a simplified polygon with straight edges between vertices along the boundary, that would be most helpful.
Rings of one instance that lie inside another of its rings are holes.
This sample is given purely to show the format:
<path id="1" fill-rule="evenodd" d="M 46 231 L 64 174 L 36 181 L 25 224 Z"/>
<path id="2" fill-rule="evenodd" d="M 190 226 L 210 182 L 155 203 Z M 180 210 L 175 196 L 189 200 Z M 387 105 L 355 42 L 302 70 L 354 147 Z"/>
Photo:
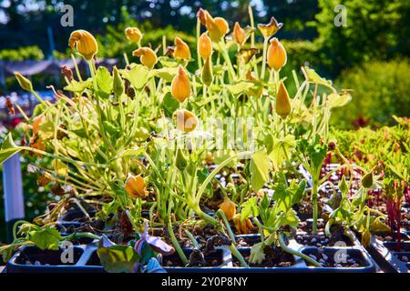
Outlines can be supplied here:
<path id="1" fill-rule="evenodd" d="M 251 186 L 256 193 L 269 180 L 271 162 L 266 151 L 262 150 L 251 156 Z"/>

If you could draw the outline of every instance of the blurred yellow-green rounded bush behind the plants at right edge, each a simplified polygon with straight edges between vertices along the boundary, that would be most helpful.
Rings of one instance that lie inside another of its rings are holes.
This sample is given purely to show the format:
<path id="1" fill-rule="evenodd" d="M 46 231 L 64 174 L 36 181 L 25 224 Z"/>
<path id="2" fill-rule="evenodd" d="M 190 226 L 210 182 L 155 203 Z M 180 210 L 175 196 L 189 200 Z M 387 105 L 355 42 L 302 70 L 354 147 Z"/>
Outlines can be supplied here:
<path id="1" fill-rule="evenodd" d="M 333 114 L 333 124 L 352 128 L 363 117 L 370 125 L 392 125 L 393 115 L 410 115 L 410 62 L 370 62 L 346 70 L 336 81 L 339 88 L 352 88 L 353 102 Z"/>

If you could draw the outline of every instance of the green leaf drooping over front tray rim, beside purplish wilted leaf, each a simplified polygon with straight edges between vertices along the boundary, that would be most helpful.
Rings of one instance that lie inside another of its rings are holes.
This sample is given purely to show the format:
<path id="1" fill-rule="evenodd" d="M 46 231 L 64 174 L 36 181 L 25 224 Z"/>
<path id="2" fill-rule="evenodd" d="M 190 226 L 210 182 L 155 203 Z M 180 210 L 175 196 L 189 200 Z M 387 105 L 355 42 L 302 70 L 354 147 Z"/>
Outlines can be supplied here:
<path id="1" fill-rule="evenodd" d="M 98 247 L 97 255 L 108 273 L 133 273 L 139 256 L 132 246 Z"/>

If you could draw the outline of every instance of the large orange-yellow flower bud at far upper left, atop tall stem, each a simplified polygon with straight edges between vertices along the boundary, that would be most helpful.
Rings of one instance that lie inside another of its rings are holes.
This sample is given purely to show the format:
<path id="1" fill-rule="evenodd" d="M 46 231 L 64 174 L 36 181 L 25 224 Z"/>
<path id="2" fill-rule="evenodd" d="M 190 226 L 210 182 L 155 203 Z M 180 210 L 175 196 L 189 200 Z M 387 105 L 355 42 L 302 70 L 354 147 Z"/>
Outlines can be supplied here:
<path id="1" fill-rule="evenodd" d="M 96 38 L 88 33 L 86 30 L 76 30 L 70 36 L 68 45 L 71 48 L 77 48 L 80 55 L 83 55 L 88 61 L 91 60 L 94 55 L 97 55 L 98 44 Z"/>

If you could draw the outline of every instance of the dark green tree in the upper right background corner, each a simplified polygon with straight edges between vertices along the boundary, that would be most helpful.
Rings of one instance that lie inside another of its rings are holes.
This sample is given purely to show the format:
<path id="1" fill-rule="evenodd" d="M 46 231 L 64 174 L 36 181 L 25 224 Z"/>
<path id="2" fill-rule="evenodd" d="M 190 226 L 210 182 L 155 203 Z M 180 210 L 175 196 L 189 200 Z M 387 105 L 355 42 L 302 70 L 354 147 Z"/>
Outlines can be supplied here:
<path id="1" fill-rule="evenodd" d="M 334 25 L 334 7 L 347 8 L 347 26 Z M 410 55 L 410 1 L 319 0 L 319 45 L 329 73 L 372 60 Z"/>

